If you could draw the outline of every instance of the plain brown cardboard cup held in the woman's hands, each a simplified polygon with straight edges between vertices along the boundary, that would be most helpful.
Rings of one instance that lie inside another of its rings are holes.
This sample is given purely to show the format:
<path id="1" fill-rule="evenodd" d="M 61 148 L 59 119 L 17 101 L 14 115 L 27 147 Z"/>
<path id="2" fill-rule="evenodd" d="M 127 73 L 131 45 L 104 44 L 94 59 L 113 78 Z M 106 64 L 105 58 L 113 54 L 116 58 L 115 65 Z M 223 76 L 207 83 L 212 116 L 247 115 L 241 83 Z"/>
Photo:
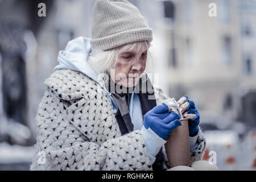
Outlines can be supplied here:
<path id="1" fill-rule="evenodd" d="M 165 144 L 170 167 L 191 167 L 188 119 L 180 119 L 181 126 L 171 131 Z"/>

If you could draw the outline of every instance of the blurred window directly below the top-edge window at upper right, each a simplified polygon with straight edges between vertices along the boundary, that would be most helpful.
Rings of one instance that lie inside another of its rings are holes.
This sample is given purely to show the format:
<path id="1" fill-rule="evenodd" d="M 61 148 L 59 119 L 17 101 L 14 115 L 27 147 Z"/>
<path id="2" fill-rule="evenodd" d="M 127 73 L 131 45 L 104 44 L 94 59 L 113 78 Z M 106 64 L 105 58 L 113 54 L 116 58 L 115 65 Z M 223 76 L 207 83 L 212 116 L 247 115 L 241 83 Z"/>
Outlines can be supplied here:
<path id="1" fill-rule="evenodd" d="M 224 36 L 221 47 L 221 61 L 225 65 L 230 65 L 232 62 L 232 44 L 230 36 Z"/>

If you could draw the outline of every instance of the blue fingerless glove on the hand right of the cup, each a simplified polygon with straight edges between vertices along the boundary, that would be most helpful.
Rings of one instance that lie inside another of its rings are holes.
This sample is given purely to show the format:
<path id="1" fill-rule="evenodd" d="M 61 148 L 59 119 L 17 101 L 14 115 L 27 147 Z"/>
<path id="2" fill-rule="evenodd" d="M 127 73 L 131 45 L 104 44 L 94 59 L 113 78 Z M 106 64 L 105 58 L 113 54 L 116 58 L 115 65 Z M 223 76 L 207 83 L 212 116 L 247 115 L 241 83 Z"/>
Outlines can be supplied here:
<path id="1" fill-rule="evenodd" d="M 189 129 L 189 137 L 195 137 L 199 132 L 199 122 L 200 122 L 200 114 L 199 111 L 196 109 L 195 103 L 188 99 L 185 102 L 189 102 L 188 108 L 185 111 L 188 111 L 188 114 L 196 114 L 196 117 L 193 119 L 188 119 L 188 129 Z M 184 102 L 184 103 L 185 103 Z"/>

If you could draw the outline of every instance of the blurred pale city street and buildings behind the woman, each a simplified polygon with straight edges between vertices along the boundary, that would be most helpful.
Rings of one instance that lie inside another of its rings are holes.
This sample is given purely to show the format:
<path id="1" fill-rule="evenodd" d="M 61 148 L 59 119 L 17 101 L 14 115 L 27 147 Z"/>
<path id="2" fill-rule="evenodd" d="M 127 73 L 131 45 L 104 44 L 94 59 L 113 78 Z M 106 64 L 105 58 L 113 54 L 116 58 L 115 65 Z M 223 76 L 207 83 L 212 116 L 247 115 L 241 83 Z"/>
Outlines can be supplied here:
<path id="1" fill-rule="evenodd" d="M 39 3 L 46 17 L 39 17 Z M 256 169 L 256 1 L 130 0 L 154 30 L 161 88 L 201 114 L 220 169 Z M 217 16 L 210 17 L 215 3 Z M 28 169 L 35 114 L 69 40 L 90 38 L 94 0 L 0 0 L 0 169 Z"/>

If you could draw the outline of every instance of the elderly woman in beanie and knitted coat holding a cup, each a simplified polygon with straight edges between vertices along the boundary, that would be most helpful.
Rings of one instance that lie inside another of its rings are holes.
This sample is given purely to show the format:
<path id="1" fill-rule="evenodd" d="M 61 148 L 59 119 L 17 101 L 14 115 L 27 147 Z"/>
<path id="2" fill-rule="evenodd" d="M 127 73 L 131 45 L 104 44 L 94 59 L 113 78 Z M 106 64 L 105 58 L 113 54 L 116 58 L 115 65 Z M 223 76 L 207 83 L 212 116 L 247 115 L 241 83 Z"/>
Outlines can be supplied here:
<path id="1" fill-rule="evenodd" d="M 45 81 L 32 170 L 170 168 L 164 144 L 181 123 L 146 75 L 151 41 L 152 29 L 131 3 L 96 1 L 92 39 L 71 40 Z M 150 85 L 144 92 L 143 83 Z M 195 162 L 205 150 L 200 114 L 187 96 L 179 105 Z"/>

